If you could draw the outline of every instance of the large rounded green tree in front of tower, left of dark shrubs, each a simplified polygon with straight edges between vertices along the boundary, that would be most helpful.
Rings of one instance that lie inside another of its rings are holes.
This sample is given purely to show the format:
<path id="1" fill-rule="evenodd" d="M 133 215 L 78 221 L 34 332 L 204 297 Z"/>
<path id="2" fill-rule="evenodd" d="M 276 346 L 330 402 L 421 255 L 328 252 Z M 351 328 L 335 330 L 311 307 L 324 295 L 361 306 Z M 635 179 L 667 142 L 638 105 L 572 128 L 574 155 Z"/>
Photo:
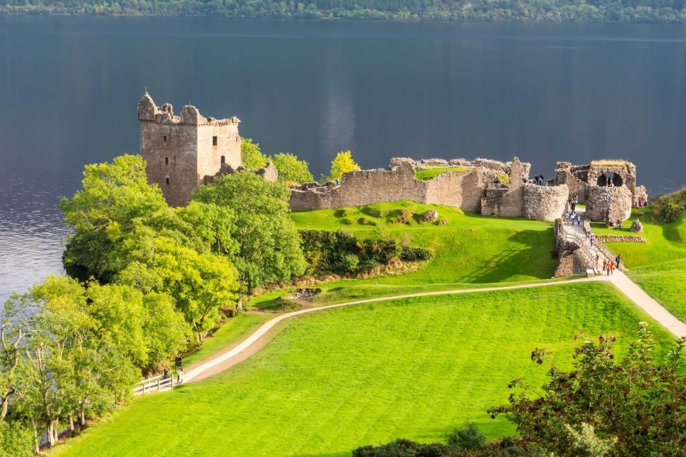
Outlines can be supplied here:
<path id="1" fill-rule="evenodd" d="M 305 262 L 288 216 L 289 190 L 284 184 L 250 172 L 236 173 L 201 186 L 194 199 L 234 211 L 231 236 L 239 249 L 230 258 L 247 291 L 302 275 Z"/>

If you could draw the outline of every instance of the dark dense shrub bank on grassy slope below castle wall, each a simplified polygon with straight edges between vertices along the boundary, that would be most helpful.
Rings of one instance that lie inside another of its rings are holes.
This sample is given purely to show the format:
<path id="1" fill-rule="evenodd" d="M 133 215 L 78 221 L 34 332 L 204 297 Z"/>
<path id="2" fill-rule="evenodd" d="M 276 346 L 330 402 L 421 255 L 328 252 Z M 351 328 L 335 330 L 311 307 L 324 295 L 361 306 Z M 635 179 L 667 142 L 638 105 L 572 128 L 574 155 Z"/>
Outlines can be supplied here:
<path id="1" fill-rule="evenodd" d="M 302 250 L 309 264 L 307 273 L 333 271 L 362 273 L 394 260 L 426 261 L 425 248 L 401 246 L 393 238 L 357 238 L 344 231 L 300 231 Z"/>

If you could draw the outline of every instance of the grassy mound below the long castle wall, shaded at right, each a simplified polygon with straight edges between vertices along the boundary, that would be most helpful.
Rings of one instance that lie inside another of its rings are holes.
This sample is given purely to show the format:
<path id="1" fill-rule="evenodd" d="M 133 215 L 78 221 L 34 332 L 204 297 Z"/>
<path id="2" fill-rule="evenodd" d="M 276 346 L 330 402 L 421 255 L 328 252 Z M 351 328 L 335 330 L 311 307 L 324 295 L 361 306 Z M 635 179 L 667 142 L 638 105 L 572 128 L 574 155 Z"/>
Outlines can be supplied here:
<path id="1" fill-rule="evenodd" d="M 391 222 L 402 208 L 411 209 L 416 215 L 412 224 Z M 437 210 L 439 217 L 446 219 L 448 224 L 419 224 L 419 215 L 428 209 Z M 374 211 L 387 211 L 387 215 L 374 217 Z M 422 205 L 409 201 L 292 213 L 291 216 L 299 229 L 350 230 L 360 236 L 383 230 L 399 239 L 408 237 L 413 245 L 424 246 L 434 252 L 434 258 L 419 271 L 402 276 L 357 280 L 354 281 L 356 284 L 527 281 L 550 278 L 557 264 L 551 256 L 552 225 L 541 221 L 480 216 L 450 206 Z M 376 222 L 377 226 L 370 228 L 342 222 L 343 219 L 357 221 L 360 217 Z M 352 281 L 340 281 L 339 285 L 346 283 Z"/>

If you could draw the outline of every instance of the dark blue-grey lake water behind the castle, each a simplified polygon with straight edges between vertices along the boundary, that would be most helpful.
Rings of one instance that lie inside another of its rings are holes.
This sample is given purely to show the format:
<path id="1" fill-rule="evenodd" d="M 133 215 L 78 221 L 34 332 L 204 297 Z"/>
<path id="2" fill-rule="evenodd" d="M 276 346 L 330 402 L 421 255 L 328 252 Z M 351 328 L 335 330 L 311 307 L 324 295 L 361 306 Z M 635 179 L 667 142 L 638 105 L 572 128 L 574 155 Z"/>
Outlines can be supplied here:
<path id="1" fill-rule="evenodd" d="M 0 301 L 61 272 L 57 199 L 137 152 L 145 87 L 315 175 L 351 149 L 545 176 L 624 158 L 653 193 L 686 183 L 686 26 L 0 16 Z"/>

